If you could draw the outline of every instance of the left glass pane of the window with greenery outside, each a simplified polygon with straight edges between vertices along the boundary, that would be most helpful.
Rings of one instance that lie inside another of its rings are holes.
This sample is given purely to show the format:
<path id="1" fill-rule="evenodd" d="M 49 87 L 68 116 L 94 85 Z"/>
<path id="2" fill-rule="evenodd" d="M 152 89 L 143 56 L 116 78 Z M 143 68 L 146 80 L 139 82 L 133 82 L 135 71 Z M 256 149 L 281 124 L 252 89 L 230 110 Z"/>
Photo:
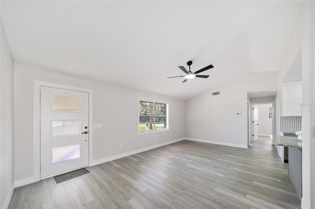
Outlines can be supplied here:
<path id="1" fill-rule="evenodd" d="M 153 130 L 154 109 L 152 102 L 139 101 L 139 131 Z"/>

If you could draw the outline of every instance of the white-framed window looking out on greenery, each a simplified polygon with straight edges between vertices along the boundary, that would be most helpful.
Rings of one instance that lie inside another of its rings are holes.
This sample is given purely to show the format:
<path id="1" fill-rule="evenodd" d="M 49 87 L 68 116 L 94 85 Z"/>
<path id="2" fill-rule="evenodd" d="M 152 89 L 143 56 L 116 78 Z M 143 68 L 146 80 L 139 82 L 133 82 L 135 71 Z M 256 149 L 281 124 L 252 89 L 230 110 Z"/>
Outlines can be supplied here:
<path id="1" fill-rule="evenodd" d="M 139 133 L 168 130 L 168 103 L 139 99 Z"/>

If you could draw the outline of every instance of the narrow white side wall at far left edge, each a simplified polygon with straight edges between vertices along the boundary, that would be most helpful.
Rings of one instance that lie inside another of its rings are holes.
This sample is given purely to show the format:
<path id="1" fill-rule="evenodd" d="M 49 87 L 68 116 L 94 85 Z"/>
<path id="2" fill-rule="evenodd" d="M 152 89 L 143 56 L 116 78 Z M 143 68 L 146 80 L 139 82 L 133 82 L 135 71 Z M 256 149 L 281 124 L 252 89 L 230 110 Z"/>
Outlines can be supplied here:
<path id="1" fill-rule="evenodd" d="M 13 58 L 1 23 L 0 208 L 7 208 L 13 184 Z"/>

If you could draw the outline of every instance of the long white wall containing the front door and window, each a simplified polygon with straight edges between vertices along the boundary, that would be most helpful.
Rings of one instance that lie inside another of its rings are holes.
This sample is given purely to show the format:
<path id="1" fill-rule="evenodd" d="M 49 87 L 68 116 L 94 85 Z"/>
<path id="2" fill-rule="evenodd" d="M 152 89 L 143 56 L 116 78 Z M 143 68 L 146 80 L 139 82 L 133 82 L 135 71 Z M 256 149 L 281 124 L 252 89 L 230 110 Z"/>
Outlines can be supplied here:
<path id="1" fill-rule="evenodd" d="M 89 70 L 89 69 L 87 69 Z M 34 80 L 93 90 L 93 160 L 185 136 L 185 103 L 179 99 L 14 63 L 14 180 L 33 177 Z M 135 81 L 136 82 L 136 81 Z M 138 97 L 169 102 L 170 131 L 138 135 Z M 177 136 L 175 136 L 175 133 Z M 119 148 L 122 144 L 122 148 Z"/>

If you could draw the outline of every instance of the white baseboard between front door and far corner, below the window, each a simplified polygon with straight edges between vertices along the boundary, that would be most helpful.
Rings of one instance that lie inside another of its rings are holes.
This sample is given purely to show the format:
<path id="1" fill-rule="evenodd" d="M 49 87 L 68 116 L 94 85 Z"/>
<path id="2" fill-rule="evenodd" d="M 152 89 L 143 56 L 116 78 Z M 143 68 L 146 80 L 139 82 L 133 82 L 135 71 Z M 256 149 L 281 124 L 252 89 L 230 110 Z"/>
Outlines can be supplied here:
<path id="1" fill-rule="evenodd" d="M 160 143 L 160 144 L 152 145 L 152 146 L 149 146 L 149 147 L 144 147 L 144 148 L 141 148 L 141 149 L 138 149 L 138 150 L 133 150 L 133 151 L 126 152 L 126 153 L 121 153 L 121 154 L 118 154 L 118 155 L 115 155 L 115 156 L 110 156 L 110 157 L 105 157 L 105 158 L 101 158 L 101 159 L 96 159 L 96 160 L 93 160 L 92 163 L 89 166 L 94 166 L 94 165 L 98 165 L 98 164 L 101 164 L 101 163 L 104 163 L 104 162 L 109 162 L 109 161 L 112 161 L 112 160 L 115 160 L 115 159 L 119 159 L 119 158 L 131 156 L 131 155 L 134 155 L 134 154 L 142 153 L 142 152 L 145 152 L 145 151 L 148 151 L 148 150 L 152 150 L 152 149 L 155 149 L 155 148 L 158 148 L 158 147 L 162 147 L 162 146 L 165 146 L 165 145 L 168 145 L 168 144 L 173 144 L 175 142 L 179 142 L 179 141 L 182 141 L 182 140 L 185 140 L 185 139 L 186 138 L 174 139 L 172 141 L 167 141 L 167 142 L 163 142 L 163 143 Z"/>

